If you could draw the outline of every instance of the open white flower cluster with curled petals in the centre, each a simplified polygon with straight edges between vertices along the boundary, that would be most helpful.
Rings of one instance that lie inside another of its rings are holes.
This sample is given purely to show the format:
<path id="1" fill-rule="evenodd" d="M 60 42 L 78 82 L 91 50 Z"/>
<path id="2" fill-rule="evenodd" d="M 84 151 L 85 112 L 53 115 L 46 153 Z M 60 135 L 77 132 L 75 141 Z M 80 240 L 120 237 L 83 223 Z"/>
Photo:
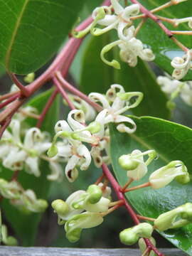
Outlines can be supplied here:
<path id="1" fill-rule="evenodd" d="M 134 132 L 136 124 L 131 118 L 122 114 L 137 107 L 143 95 L 142 92 L 124 92 L 121 85 L 111 85 L 106 95 L 92 92 L 89 97 L 92 101 L 99 102 L 103 110 L 87 126 L 82 110 L 70 111 L 68 122 L 61 120 L 55 124 L 56 134 L 48 150 L 48 156 L 67 162 L 65 175 L 70 182 L 78 177 L 77 166 L 80 166 L 82 171 L 88 169 L 91 157 L 97 167 L 104 162 L 107 164 L 110 162 L 108 124 L 112 122 L 117 124 L 119 132 Z M 58 137 L 62 139 L 59 142 L 57 142 Z M 83 142 L 90 144 L 91 150 Z"/>

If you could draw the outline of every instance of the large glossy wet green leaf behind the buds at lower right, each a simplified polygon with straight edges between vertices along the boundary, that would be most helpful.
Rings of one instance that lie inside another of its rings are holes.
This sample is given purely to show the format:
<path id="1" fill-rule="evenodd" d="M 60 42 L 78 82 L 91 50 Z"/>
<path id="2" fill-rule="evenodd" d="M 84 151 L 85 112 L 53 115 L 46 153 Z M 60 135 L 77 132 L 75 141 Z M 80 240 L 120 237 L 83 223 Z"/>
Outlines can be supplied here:
<path id="1" fill-rule="evenodd" d="M 189 173 L 192 174 L 192 129 L 154 117 L 132 117 L 132 119 L 137 124 L 137 131 L 134 134 L 119 133 L 116 127 L 110 127 L 112 166 L 121 186 L 126 183 L 127 175 L 126 171 L 121 169 L 118 164 L 119 156 L 129 154 L 134 149 L 141 151 L 155 149 L 159 154 L 159 159 L 152 161 L 149 165 L 148 174 L 141 181 L 134 181 L 132 186 L 147 182 L 152 171 L 173 160 L 183 161 Z M 126 193 L 126 196 L 139 214 L 156 218 L 161 213 L 181 206 L 183 203 L 192 202 L 191 193 L 191 182 L 187 185 L 181 185 L 172 181 L 165 188 L 157 190 L 149 187 L 140 188 Z M 187 252 L 188 255 L 192 255 L 192 225 L 168 230 L 161 235 L 176 247 Z"/>

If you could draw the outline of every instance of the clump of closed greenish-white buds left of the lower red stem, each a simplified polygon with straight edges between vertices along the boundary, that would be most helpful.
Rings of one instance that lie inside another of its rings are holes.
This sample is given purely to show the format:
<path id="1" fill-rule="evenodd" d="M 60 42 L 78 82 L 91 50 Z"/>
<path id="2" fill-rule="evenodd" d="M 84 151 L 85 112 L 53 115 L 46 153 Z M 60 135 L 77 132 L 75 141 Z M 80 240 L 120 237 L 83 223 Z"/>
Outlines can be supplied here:
<path id="1" fill-rule="evenodd" d="M 93 228 L 103 222 L 103 216 L 110 208 L 109 187 L 103 184 L 90 185 L 87 191 L 76 191 L 66 201 L 55 200 L 52 207 L 58 214 L 58 224 L 65 224 L 66 237 L 77 242 L 83 228 Z"/>

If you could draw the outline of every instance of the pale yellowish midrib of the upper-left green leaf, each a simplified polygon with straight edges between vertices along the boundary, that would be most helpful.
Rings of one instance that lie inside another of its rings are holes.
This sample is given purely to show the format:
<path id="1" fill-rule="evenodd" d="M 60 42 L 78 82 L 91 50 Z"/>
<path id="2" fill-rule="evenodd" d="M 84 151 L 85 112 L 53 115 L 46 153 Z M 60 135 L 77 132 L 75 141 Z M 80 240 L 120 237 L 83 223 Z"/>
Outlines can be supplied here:
<path id="1" fill-rule="evenodd" d="M 11 49 L 12 49 L 12 46 L 14 45 L 14 41 L 15 41 L 15 38 L 16 38 L 16 35 L 17 35 L 17 32 L 18 32 L 18 28 L 21 24 L 21 18 L 23 18 L 23 14 L 24 14 L 24 11 L 26 10 L 26 6 L 28 5 L 28 2 L 29 2 L 29 0 L 26 0 L 25 3 L 23 4 L 23 8 L 21 9 L 21 12 L 18 16 L 18 20 L 16 21 L 16 26 L 15 26 L 15 29 L 14 29 L 14 33 L 12 34 L 9 47 L 7 48 L 7 51 L 6 51 L 5 64 L 6 64 L 6 69 L 7 70 L 9 68 L 9 58 L 11 56 Z"/>

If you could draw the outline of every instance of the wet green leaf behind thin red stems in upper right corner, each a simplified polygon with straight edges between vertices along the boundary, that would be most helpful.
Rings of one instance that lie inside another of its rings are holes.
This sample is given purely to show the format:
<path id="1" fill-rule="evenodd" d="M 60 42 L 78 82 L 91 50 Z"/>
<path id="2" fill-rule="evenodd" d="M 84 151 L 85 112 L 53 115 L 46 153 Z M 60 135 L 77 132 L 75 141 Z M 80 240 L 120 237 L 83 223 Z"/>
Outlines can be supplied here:
<path id="1" fill-rule="evenodd" d="M 140 3 L 143 4 L 147 9 L 154 9 L 161 4 L 166 4 L 166 0 L 141 0 Z M 156 15 L 164 16 L 167 18 L 185 18 L 191 16 L 191 1 L 184 1 L 181 4 L 176 6 L 171 6 L 167 9 L 159 11 Z M 187 26 L 187 23 L 183 23 L 178 27 L 174 27 L 169 23 L 164 22 L 164 25 L 169 28 L 171 31 L 190 31 L 190 28 Z M 178 41 L 181 41 L 184 46 L 191 49 L 191 36 L 175 36 Z M 147 19 L 144 26 L 140 29 L 137 38 L 141 39 L 143 43 L 147 46 L 150 46 L 154 51 L 156 58 L 154 62 L 159 65 L 164 71 L 172 74 L 174 68 L 171 67 L 171 60 L 176 56 L 183 56 L 184 53 L 176 46 L 174 41 L 172 41 L 164 31 L 150 18 Z M 188 71 L 183 80 L 192 80 L 192 71 Z"/>

